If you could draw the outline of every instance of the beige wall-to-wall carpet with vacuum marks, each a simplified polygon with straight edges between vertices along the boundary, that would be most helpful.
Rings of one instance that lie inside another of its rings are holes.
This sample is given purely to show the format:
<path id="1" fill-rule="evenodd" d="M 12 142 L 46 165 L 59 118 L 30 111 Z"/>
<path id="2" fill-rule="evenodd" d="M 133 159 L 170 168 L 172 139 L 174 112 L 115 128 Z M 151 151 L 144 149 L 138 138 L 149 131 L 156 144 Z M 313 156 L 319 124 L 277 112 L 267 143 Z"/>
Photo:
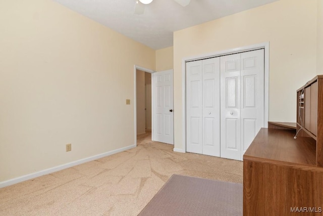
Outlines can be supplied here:
<path id="1" fill-rule="evenodd" d="M 0 189 L 0 215 L 137 215 L 173 174 L 242 183 L 241 161 L 137 147 Z"/>

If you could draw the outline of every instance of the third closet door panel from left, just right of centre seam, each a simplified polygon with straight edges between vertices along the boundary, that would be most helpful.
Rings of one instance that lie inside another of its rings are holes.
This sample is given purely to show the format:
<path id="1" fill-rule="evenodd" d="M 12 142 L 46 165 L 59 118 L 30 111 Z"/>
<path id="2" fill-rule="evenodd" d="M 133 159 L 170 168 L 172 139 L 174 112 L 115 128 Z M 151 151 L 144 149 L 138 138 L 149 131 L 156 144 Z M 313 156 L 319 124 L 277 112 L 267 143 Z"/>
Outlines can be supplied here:
<path id="1" fill-rule="evenodd" d="M 220 61 L 221 157 L 240 160 L 240 53 Z"/>

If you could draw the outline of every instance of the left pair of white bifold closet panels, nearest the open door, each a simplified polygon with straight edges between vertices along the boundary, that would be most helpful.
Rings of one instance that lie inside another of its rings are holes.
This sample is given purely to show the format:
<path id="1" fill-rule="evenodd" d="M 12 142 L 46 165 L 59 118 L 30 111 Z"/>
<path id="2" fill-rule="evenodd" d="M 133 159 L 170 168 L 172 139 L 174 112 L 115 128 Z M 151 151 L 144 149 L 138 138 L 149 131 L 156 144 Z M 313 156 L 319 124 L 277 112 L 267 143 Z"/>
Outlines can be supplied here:
<path id="1" fill-rule="evenodd" d="M 186 151 L 220 157 L 220 57 L 186 63 Z"/>

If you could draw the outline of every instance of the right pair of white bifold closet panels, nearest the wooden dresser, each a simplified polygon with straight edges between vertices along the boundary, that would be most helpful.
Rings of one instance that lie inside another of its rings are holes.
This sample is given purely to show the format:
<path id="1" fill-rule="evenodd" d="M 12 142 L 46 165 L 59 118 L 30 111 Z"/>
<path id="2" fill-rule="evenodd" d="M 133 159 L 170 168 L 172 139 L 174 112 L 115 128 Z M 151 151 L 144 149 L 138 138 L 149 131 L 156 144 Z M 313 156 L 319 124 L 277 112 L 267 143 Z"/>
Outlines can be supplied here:
<path id="1" fill-rule="evenodd" d="M 264 50 L 220 58 L 221 157 L 242 160 L 264 126 Z"/>

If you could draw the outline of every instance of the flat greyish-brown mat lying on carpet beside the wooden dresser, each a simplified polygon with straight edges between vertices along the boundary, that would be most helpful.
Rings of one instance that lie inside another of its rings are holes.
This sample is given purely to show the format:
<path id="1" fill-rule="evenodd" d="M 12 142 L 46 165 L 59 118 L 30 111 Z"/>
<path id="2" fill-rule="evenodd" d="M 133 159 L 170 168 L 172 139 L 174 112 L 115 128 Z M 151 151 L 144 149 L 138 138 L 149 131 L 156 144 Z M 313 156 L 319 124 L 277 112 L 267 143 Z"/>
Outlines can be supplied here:
<path id="1" fill-rule="evenodd" d="M 242 184 L 174 174 L 139 216 L 239 216 Z"/>

